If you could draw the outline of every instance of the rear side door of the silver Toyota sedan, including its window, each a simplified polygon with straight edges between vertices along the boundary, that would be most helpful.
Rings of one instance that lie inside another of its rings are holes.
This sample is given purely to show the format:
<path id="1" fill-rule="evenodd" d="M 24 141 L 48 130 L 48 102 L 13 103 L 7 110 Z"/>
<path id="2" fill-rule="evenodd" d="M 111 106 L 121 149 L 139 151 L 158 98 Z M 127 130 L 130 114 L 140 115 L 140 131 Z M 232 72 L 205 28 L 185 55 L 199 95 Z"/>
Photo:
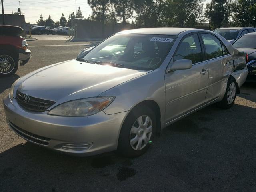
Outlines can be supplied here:
<path id="1" fill-rule="evenodd" d="M 205 101 L 210 102 L 221 94 L 224 81 L 231 72 L 232 56 L 217 36 L 207 32 L 201 32 L 200 34 L 204 43 L 209 70 L 208 90 Z"/>

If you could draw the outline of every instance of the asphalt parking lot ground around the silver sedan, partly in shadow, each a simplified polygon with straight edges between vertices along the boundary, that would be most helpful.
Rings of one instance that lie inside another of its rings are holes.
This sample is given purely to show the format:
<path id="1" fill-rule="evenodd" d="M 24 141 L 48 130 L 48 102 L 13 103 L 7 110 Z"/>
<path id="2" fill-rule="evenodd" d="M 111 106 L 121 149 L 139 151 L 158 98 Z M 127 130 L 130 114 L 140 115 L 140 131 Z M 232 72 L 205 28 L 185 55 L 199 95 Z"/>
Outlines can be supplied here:
<path id="1" fill-rule="evenodd" d="M 32 58 L 16 75 L 1 78 L 0 100 L 20 76 L 95 44 L 29 42 Z M 255 192 L 256 84 L 240 92 L 229 110 L 209 106 L 165 128 L 134 159 L 114 152 L 73 157 L 30 144 L 8 128 L 0 102 L 0 191 Z"/>

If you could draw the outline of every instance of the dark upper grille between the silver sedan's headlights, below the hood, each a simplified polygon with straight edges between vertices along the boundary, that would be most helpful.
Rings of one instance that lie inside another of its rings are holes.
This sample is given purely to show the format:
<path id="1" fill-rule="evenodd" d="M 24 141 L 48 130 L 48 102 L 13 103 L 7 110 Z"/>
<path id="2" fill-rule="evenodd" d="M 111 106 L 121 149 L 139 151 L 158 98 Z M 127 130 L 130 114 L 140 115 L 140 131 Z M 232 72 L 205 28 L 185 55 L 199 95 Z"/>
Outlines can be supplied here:
<path id="1" fill-rule="evenodd" d="M 40 98 L 35 98 L 29 96 L 30 100 L 28 102 L 24 101 L 24 93 L 21 93 L 19 90 L 17 90 L 16 93 L 16 99 L 20 106 L 23 108 L 30 110 L 30 111 L 36 111 L 36 112 L 44 112 L 46 109 L 48 109 L 50 106 L 52 106 L 55 102 L 44 100 Z"/>

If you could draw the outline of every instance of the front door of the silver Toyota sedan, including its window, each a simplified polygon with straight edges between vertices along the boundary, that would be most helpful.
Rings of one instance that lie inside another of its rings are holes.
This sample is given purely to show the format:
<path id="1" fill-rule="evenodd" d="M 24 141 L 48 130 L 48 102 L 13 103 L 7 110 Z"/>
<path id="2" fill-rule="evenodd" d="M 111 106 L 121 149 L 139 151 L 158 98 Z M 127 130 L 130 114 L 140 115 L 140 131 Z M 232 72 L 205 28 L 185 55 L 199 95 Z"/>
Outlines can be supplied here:
<path id="1" fill-rule="evenodd" d="M 192 60 L 192 68 L 165 74 L 166 123 L 205 103 L 208 87 L 208 64 L 202 54 L 199 34 L 185 36 L 170 64 L 179 59 Z"/>

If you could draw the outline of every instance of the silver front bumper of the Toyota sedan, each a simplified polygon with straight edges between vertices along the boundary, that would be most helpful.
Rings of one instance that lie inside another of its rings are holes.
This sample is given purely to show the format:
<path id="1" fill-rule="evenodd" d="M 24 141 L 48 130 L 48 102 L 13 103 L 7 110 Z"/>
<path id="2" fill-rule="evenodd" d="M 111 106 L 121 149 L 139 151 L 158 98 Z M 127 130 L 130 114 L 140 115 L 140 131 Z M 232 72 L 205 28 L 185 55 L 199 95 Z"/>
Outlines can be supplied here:
<path id="1" fill-rule="evenodd" d="M 117 149 L 119 132 L 128 112 L 108 115 L 103 111 L 87 117 L 52 116 L 29 112 L 16 99 L 4 98 L 6 120 L 19 136 L 32 143 L 78 156 Z"/>

